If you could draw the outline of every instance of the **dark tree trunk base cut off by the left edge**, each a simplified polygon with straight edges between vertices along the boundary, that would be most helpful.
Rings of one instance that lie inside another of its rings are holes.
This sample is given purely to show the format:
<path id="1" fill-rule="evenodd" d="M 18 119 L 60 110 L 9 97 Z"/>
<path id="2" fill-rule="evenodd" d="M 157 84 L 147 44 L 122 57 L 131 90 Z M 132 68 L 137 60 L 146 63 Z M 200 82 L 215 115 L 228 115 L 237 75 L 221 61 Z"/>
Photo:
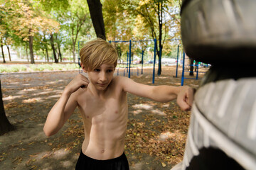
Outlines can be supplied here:
<path id="1" fill-rule="evenodd" d="M 1 93 L 1 79 L 0 79 L 0 135 L 3 135 L 6 132 L 14 130 L 14 126 L 11 125 L 9 120 L 6 117 L 6 113 L 4 111 L 4 102 Z"/>

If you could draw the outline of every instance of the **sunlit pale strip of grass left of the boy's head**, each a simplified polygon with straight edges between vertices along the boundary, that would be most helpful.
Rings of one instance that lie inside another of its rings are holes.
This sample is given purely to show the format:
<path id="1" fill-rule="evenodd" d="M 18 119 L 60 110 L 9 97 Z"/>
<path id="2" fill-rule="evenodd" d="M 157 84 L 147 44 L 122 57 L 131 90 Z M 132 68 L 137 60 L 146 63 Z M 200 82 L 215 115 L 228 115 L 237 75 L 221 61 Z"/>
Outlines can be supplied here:
<path id="1" fill-rule="evenodd" d="M 12 72 L 45 72 L 45 71 L 61 71 L 79 69 L 78 64 L 0 64 L 0 73 Z"/>

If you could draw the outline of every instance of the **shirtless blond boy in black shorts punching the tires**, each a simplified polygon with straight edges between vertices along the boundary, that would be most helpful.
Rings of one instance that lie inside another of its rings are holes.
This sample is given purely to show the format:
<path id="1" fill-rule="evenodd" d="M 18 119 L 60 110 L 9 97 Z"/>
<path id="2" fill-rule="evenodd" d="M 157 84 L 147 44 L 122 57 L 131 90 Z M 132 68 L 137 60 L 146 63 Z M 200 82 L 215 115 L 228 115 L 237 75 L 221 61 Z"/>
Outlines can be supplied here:
<path id="1" fill-rule="evenodd" d="M 85 127 L 85 140 L 75 169 L 126 170 L 124 137 L 127 131 L 127 92 L 158 102 L 177 99 L 183 111 L 190 110 L 193 89 L 188 86 L 148 86 L 127 77 L 114 77 L 117 51 L 105 40 L 87 42 L 80 50 L 82 70 L 65 87 L 48 113 L 46 136 L 63 127 L 78 106 Z"/>

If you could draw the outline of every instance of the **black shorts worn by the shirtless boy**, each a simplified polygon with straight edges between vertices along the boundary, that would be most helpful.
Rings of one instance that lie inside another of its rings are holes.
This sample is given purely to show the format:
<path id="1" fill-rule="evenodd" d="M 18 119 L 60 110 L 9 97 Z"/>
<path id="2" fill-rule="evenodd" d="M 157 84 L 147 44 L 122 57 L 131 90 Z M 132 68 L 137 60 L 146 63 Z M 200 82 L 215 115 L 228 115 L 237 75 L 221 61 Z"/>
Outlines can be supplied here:
<path id="1" fill-rule="evenodd" d="M 87 157 L 81 151 L 75 170 L 129 170 L 129 164 L 124 153 L 114 159 L 97 160 Z"/>

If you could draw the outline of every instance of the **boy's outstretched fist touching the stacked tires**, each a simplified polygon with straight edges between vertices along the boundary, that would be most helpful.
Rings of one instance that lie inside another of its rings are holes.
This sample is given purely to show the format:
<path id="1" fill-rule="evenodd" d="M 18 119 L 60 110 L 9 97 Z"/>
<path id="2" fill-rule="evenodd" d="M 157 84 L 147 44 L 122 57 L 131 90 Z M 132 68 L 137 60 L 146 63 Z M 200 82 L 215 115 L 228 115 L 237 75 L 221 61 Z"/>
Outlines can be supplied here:
<path id="1" fill-rule="evenodd" d="M 190 111 L 196 89 L 189 86 L 180 86 L 177 94 L 177 104 L 182 111 Z"/>

